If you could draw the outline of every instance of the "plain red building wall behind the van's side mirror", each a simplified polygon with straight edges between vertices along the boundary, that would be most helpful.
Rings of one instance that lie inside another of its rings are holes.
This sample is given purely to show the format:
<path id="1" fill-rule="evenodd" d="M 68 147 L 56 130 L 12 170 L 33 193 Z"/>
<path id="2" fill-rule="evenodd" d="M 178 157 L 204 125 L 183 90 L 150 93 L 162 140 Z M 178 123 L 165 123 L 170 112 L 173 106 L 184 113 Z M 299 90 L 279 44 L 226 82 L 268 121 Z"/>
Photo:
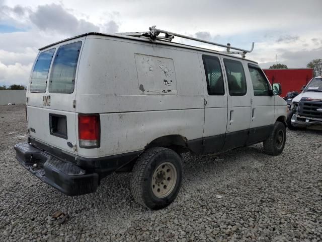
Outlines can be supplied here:
<path id="1" fill-rule="evenodd" d="M 271 84 L 280 83 L 282 85 L 281 97 L 285 97 L 287 92 L 301 92 L 303 85 L 306 85 L 313 78 L 313 69 L 263 69 Z"/>

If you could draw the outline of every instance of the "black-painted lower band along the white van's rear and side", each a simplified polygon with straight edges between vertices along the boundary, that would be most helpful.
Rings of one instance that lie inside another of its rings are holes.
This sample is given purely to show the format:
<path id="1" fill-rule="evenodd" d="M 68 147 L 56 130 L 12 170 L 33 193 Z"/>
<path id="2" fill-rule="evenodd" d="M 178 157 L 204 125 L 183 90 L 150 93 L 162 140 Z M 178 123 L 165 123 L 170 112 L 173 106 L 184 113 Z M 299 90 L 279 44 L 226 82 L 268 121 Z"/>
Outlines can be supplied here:
<path id="1" fill-rule="evenodd" d="M 260 143 L 268 138 L 274 125 L 252 128 L 227 134 L 204 137 L 186 142 L 187 148 L 195 154 L 217 153 L 234 149 L 241 146 Z M 29 138 L 30 143 L 36 148 L 45 151 L 60 160 L 66 160 L 89 172 L 96 172 L 100 178 L 107 176 L 114 171 L 131 171 L 133 162 L 143 151 L 133 151 L 123 154 L 110 155 L 99 158 L 85 158 L 63 151 L 59 148 L 45 144 L 33 137 Z"/>

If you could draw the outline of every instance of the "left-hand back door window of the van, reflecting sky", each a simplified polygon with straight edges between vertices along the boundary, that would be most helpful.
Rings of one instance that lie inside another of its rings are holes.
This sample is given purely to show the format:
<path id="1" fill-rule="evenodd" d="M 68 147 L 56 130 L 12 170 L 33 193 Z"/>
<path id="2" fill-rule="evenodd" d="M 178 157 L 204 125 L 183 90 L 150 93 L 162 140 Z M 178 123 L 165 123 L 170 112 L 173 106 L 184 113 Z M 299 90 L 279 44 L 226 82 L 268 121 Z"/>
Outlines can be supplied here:
<path id="1" fill-rule="evenodd" d="M 55 49 L 50 49 L 39 54 L 31 74 L 30 92 L 46 92 L 48 71 L 54 52 Z"/>

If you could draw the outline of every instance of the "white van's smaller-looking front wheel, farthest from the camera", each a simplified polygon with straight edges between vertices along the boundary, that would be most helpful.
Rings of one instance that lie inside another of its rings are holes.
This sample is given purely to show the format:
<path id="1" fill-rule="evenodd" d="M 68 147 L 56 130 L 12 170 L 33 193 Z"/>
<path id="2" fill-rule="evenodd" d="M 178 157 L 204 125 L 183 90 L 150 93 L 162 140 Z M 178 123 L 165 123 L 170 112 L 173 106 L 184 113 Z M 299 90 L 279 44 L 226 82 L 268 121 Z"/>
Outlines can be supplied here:
<path id="1" fill-rule="evenodd" d="M 282 153 L 286 142 L 286 127 L 281 122 L 276 122 L 270 136 L 263 142 L 264 151 L 268 155 Z"/>

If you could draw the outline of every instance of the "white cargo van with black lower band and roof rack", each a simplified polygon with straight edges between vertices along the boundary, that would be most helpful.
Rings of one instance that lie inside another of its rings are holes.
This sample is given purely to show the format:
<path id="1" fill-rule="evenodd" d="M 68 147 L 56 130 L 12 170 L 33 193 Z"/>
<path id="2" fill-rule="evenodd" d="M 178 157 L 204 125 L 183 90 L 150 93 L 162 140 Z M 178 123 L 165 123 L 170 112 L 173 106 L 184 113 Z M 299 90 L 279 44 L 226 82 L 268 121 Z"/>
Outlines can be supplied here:
<path id="1" fill-rule="evenodd" d="M 173 43 L 174 36 L 227 51 Z M 286 102 L 280 85 L 272 88 L 258 64 L 245 59 L 250 51 L 154 26 L 45 46 L 30 76 L 28 143 L 15 146 L 17 159 L 70 196 L 95 192 L 112 172 L 132 172 L 134 199 L 159 209 L 179 192 L 180 153 L 264 142 L 267 154 L 278 155 Z"/>

